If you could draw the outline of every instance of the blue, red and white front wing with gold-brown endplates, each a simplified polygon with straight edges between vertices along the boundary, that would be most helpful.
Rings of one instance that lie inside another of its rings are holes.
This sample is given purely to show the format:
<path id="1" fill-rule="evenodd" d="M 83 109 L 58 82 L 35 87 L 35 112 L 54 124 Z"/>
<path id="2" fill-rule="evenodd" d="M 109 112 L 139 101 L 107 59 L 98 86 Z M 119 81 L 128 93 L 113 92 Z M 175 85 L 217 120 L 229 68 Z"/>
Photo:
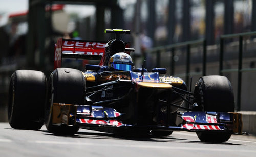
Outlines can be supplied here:
<path id="1" fill-rule="evenodd" d="M 185 112 L 180 113 L 178 126 L 123 124 L 121 113 L 113 108 L 91 105 L 53 104 L 53 125 L 79 124 L 81 128 L 133 128 L 161 131 L 212 131 L 242 133 L 242 117 L 234 112 Z"/>

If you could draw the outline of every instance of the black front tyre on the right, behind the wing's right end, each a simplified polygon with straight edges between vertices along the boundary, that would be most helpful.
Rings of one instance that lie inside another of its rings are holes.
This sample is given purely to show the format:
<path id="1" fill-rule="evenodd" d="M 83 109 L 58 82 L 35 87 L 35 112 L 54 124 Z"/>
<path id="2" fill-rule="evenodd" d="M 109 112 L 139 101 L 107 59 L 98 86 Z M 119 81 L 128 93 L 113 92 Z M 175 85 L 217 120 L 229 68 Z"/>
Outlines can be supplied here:
<path id="1" fill-rule="evenodd" d="M 194 90 L 197 110 L 213 112 L 234 112 L 233 89 L 225 76 L 204 76 L 199 78 Z M 232 132 L 197 132 L 203 142 L 225 142 Z"/>

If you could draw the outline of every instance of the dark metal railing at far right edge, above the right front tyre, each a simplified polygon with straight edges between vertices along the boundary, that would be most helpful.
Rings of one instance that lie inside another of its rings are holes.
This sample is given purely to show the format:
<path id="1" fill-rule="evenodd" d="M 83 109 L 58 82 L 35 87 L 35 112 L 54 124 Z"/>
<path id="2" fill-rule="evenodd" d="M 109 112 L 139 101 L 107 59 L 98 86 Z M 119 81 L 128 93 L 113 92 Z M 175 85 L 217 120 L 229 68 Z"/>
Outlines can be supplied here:
<path id="1" fill-rule="evenodd" d="M 234 72 L 238 71 L 238 93 L 237 93 L 237 111 L 241 109 L 241 84 L 242 84 L 242 72 L 246 71 L 256 71 L 256 68 L 242 69 L 243 63 L 243 38 L 245 36 L 256 35 L 256 32 L 247 32 L 247 33 L 238 33 L 238 34 L 228 34 L 222 35 L 220 37 L 220 67 L 219 75 L 223 75 L 224 72 Z M 224 56 L 224 40 L 228 38 L 237 38 L 239 37 L 239 55 L 238 55 L 238 69 L 223 69 L 223 56 Z"/>

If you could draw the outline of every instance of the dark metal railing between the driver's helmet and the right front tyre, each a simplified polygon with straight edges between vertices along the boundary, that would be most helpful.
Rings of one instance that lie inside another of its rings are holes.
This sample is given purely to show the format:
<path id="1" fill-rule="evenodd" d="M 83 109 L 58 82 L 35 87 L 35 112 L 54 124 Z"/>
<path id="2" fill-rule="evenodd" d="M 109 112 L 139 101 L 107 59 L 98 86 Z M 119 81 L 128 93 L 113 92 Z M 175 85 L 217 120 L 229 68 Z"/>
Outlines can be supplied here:
<path id="1" fill-rule="evenodd" d="M 171 58 L 170 58 L 170 74 L 174 75 L 175 72 L 175 61 L 174 61 L 174 56 L 175 56 L 175 49 L 181 48 L 181 47 L 186 47 L 186 83 L 188 84 L 189 82 L 189 75 L 190 75 L 190 49 L 191 46 L 193 45 L 199 45 L 203 44 L 203 61 L 202 61 L 202 75 L 206 75 L 206 40 L 201 39 L 201 40 L 195 40 L 195 41 L 188 41 L 188 42 L 182 42 L 182 43 L 177 43 L 177 44 L 172 44 L 172 45 L 166 45 L 166 46 L 159 46 L 152 48 L 148 50 L 146 53 L 156 53 L 156 66 L 160 67 L 160 58 L 161 58 L 161 51 L 168 51 L 170 50 L 171 53 Z"/>

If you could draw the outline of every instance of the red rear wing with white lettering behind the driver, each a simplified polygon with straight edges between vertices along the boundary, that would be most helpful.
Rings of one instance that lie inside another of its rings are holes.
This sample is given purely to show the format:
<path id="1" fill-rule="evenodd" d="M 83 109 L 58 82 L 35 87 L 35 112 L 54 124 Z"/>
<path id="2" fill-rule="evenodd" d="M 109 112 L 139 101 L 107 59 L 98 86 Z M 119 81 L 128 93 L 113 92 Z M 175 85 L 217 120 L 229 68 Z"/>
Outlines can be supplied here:
<path id="1" fill-rule="evenodd" d="M 59 38 L 54 51 L 54 69 L 61 67 L 62 58 L 101 60 L 106 42 Z"/>

